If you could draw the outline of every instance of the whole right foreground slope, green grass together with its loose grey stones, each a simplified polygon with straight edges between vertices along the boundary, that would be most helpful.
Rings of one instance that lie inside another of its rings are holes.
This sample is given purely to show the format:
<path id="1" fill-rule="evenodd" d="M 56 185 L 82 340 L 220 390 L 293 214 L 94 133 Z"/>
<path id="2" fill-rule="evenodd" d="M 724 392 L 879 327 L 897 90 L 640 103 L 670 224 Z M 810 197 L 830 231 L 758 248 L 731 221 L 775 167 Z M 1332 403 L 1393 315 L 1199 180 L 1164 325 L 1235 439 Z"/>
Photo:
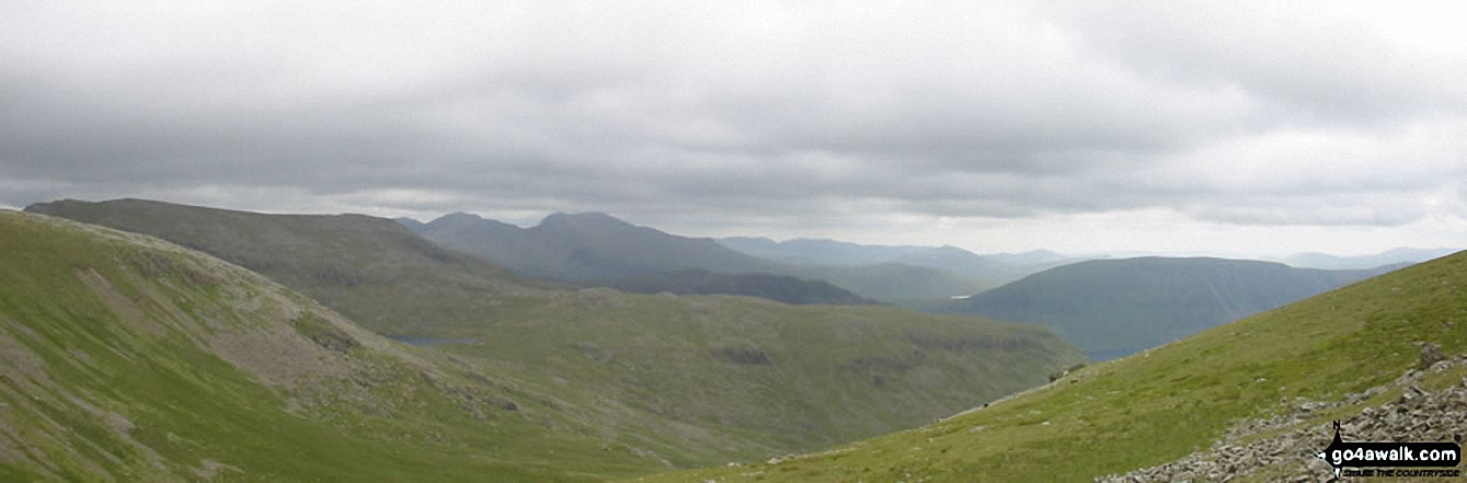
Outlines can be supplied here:
<path id="1" fill-rule="evenodd" d="M 1138 480 L 1325 482 L 1331 467 L 1314 454 L 1331 443 L 1334 420 L 1347 442 L 1455 442 L 1467 432 L 1464 291 L 1467 254 L 1449 255 L 923 429 L 640 480 L 1093 482 L 1175 462 Z M 1427 342 L 1448 361 L 1417 370 Z"/>

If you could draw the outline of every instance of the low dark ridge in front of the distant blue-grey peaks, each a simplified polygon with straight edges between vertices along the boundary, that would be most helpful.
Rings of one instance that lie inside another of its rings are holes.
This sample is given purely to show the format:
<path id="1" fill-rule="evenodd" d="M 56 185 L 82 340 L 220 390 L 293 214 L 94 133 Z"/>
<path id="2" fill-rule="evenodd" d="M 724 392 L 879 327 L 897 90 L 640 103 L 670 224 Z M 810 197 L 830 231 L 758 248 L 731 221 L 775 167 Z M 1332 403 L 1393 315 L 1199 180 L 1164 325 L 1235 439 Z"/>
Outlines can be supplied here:
<path id="1" fill-rule="evenodd" d="M 634 294 L 678 295 L 748 295 L 785 304 L 863 305 L 876 301 L 861 298 L 824 280 L 802 280 L 792 276 L 764 273 L 714 273 L 682 270 L 612 280 L 606 286 Z"/>

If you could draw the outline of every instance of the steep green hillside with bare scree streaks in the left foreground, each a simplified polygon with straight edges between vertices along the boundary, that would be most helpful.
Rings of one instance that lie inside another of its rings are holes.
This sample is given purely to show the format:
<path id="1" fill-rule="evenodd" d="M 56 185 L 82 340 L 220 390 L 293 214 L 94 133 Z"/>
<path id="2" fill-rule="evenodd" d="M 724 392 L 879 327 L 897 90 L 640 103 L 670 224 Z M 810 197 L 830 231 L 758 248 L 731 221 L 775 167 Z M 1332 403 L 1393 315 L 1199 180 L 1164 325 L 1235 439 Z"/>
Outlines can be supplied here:
<path id="1" fill-rule="evenodd" d="M 153 238 L 0 210 L 0 480 L 590 480 L 657 462 Z M 553 455 L 552 455 L 553 454 Z"/>

